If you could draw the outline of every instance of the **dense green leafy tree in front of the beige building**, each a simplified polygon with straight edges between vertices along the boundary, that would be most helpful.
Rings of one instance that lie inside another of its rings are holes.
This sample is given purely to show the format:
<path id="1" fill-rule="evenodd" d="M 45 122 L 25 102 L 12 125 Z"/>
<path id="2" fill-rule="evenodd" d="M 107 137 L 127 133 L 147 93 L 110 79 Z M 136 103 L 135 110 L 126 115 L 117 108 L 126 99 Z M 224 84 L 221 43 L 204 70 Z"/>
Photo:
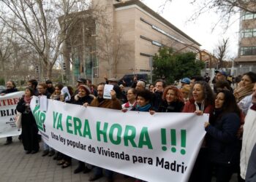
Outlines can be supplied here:
<path id="1" fill-rule="evenodd" d="M 174 52 L 170 47 L 160 47 L 153 57 L 154 80 L 165 77 L 168 84 L 184 77 L 199 75 L 205 63 L 195 60 L 193 52 Z"/>

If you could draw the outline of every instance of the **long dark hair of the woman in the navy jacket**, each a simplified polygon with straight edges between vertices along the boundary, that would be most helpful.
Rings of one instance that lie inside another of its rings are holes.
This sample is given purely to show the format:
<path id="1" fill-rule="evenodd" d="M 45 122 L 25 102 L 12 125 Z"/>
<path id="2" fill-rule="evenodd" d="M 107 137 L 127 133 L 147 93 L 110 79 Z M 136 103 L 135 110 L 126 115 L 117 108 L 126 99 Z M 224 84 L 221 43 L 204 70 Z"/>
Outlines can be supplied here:
<path id="1" fill-rule="evenodd" d="M 238 105 L 236 103 L 236 98 L 233 95 L 233 93 L 228 90 L 221 90 L 218 92 L 218 94 L 219 93 L 223 93 L 225 95 L 224 103 L 221 108 L 222 115 L 226 114 L 226 113 L 236 113 L 240 117 L 241 110 L 240 110 L 240 108 L 238 108 Z"/>

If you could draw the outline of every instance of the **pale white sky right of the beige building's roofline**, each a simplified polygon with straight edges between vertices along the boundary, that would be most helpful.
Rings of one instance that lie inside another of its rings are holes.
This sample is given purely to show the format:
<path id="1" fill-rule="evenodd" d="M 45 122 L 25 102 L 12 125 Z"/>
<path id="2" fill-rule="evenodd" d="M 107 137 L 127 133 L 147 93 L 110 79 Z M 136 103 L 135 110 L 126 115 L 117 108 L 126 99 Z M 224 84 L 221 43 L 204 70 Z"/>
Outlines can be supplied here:
<path id="1" fill-rule="evenodd" d="M 191 21 L 190 17 L 197 9 L 196 6 L 189 4 L 189 0 L 172 0 L 165 5 L 163 9 L 160 7 L 165 0 L 143 0 L 143 3 L 148 7 L 158 12 L 170 23 L 175 25 L 181 31 L 186 33 L 192 39 L 195 39 L 202 46 L 202 50 L 214 53 L 214 50 L 219 45 L 222 39 L 229 39 L 228 57 L 236 58 L 238 52 L 238 15 L 231 20 L 232 25 L 227 31 L 224 31 L 223 25 L 217 25 L 212 31 L 214 24 L 219 20 L 219 16 L 215 12 L 206 12 L 197 20 Z"/>

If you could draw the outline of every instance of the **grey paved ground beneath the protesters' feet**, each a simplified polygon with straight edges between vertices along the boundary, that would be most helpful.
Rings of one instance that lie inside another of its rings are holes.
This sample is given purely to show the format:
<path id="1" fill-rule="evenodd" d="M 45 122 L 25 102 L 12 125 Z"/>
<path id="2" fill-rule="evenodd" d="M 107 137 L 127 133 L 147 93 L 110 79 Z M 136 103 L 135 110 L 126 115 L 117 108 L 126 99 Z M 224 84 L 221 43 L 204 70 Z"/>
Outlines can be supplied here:
<path id="1" fill-rule="evenodd" d="M 91 173 L 73 173 L 78 166 L 76 160 L 72 160 L 71 167 L 62 169 L 56 165 L 53 157 L 42 157 L 42 151 L 37 154 L 25 154 L 18 137 L 14 137 L 13 143 L 9 146 L 4 146 L 4 142 L 5 138 L 0 138 L 0 182 L 86 182 L 89 180 Z M 42 145 L 42 143 L 40 144 Z M 98 182 L 103 181 L 105 178 L 98 180 Z M 124 178 L 120 174 L 115 176 L 115 182 L 133 181 L 135 180 Z M 236 175 L 233 175 L 232 182 L 236 182 Z"/>

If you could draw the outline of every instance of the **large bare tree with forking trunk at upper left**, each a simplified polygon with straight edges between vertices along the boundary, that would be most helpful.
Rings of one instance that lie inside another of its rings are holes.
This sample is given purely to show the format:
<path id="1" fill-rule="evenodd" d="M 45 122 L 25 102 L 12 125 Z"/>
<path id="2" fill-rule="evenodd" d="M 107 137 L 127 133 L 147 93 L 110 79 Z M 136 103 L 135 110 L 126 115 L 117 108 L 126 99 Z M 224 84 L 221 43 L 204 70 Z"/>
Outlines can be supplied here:
<path id="1" fill-rule="evenodd" d="M 0 19 L 37 51 L 38 65 L 48 78 L 67 39 L 67 29 L 75 23 L 75 17 L 69 14 L 89 7 L 81 0 L 2 0 L 1 6 Z M 63 28 L 58 23 L 61 15 Z"/>

